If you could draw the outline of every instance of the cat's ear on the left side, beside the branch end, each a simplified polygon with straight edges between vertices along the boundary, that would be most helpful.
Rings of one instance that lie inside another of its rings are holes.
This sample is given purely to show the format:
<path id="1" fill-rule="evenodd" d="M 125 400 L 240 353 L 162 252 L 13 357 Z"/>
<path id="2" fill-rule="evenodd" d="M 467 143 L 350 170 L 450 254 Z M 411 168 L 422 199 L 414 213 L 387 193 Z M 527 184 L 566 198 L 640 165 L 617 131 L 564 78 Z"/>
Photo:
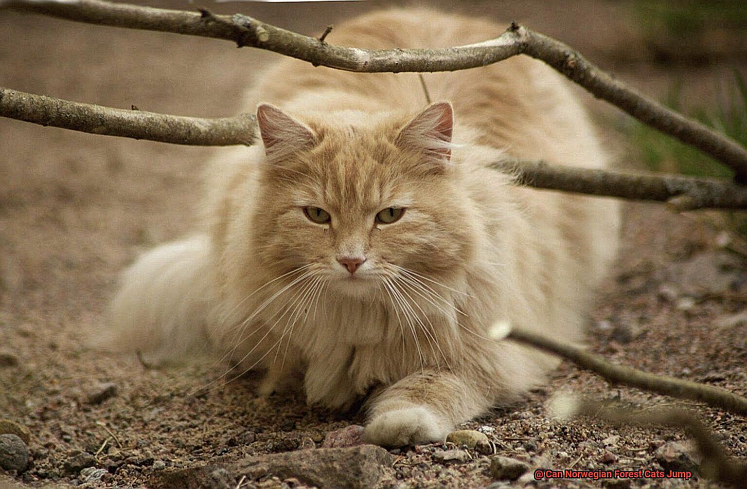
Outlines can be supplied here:
<path id="1" fill-rule="evenodd" d="M 282 159 L 316 142 L 309 126 L 285 114 L 275 105 L 260 104 L 257 107 L 257 126 L 264 143 L 264 153 L 270 159 Z"/>

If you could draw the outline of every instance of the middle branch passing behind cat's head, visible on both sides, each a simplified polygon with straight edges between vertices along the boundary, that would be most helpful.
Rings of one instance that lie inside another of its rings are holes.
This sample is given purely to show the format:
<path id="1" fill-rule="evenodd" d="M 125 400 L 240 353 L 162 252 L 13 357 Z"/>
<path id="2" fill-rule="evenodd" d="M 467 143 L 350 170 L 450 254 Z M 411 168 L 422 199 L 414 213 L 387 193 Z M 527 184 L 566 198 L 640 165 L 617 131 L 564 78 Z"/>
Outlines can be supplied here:
<path id="1" fill-rule="evenodd" d="M 0 87 L 0 116 L 89 132 L 193 146 L 255 143 L 255 117 L 201 119 L 101 105 L 69 102 L 52 96 Z M 492 165 L 515 176 L 521 185 L 603 197 L 667 202 L 677 210 L 747 209 L 747 188 L 727 180 L 624 173 L 568 167 L 545 162 L 508 160 Z"/>

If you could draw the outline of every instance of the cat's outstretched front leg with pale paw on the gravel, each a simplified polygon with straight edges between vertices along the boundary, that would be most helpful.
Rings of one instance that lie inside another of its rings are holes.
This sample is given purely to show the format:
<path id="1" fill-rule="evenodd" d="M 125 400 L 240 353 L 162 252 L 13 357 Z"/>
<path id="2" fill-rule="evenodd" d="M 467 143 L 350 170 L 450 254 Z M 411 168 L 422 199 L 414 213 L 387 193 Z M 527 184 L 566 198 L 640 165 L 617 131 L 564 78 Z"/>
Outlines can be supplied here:
<path id="1" fill-rule="evenodd" d="M 409 375 L 371 400 L 363 437 L 381 446 L 443 441 L 454 426 L 492 405 L 480 384 L 445 370 Z"/>

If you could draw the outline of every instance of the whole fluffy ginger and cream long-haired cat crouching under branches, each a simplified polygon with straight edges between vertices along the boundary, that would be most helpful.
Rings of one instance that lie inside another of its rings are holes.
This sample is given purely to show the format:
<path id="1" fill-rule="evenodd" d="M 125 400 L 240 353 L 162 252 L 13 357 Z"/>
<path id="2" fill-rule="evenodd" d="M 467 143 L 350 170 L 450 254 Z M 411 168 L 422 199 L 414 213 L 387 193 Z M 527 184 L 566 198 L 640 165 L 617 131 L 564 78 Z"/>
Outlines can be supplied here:
<path id="1" fill-rule="evenodd" d="M 503 27 L 435 10 L 379 10 L 328 41 L 436 48 Z M 506 158 L 605 167 L 565 79 L 518 56 L 472 70 L 346 73 L 283 59 L 244 106 L 253 147 L 208 168 L 202 227 L 123 275 L 105 343 L 169 360 L 210 345 L 265 369 L 262 395 L 347 410 L 364 438 L 444 440 L 516 399 L 557 360 L 491 328 L 576 342 L 617 250 L 613 200 L 517 185 Z"/>

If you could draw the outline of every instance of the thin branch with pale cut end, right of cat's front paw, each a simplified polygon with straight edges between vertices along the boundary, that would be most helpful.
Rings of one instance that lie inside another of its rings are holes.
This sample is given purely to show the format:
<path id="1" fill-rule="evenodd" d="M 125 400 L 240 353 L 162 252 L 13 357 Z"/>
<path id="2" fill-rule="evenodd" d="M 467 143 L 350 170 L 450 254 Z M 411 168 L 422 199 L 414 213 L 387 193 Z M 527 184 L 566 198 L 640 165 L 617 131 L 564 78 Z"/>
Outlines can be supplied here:
<path id="1" fill-rule="evenodd" d="M 583 348 L 530 333 L 526 330 L 512 329 L 506 339 L 512 339 L 539 348 L 542 351 L 548 351 L 565 358 L 565 360 L 571 360 L 577 366 L 594 372 L 611 384 L 622 384 L 663 394 L 664 396 L 704 402 L 707 405 L 719 407 L 731 413 L 747 416 L 747 398 L 738 396 L 721 387 L 698 384 L 697 382 L 685 381 L 666 375 L 654 375 L 629 366 L 615 365 Z"/>

